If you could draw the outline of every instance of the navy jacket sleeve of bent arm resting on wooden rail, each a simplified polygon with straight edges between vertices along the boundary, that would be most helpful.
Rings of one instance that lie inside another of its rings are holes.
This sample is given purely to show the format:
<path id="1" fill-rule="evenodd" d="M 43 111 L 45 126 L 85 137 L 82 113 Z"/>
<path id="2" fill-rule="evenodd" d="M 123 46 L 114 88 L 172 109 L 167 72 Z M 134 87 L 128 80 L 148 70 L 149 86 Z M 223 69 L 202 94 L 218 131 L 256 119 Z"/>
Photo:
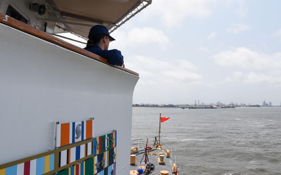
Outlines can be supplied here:
<path id="1" fill-rule="evenodd" d="M 107 59 L 109 63 L 113 65 L 121 66 L 122 64 L 124 64 L 121 51 L 118 51 L 117 49 L 103 50 L 99 56 Z"/>

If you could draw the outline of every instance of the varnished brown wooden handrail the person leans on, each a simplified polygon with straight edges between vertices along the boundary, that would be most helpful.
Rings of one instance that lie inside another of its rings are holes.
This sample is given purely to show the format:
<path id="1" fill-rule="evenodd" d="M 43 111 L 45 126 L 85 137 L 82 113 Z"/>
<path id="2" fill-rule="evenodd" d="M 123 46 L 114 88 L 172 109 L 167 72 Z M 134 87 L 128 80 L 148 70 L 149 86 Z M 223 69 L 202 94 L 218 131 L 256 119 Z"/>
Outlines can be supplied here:
<path id="1" fill-rule="evenodd" d="M 94 59 L 94 60 L 97 60 L 99 62 L 105 63 L 107 65 L 110 65 L 110 66 L 115 67 L 117 69 L 120 69 L 122 71 L 125 71 L 125 72 L 128 72 L 130 74 L 139 76 L 139 74 L 134 72 L 134 71 L 131 71 L 131 70 L 126 69 L 126 68 L 121 67 L 121 66 L 112 65 L 108 62 L 107 59 L 105 59 L 103 57 L 100 57 L 99 55 L 95 55 L 92 52 L 86 51 L 85 49 L 82 49 L 80 47 L 74 46 L 73 44 L 67 43 L 67 42 L 65 42 L 61 39 L 58 39 L 58 38 L 56 38 L 56 37 L 54 37 L 54 36 L 52 36 L 52 35 L 50 35 L 46 32 L 40 31 L 39 29 L 36 29 L 35 27 L 29 26 L 29 25 L 27 25 L 27 24 L 25 24 L 25 23 L 23 23 L 23 22 L 21 22 L 17 19 L 14 19 L 14 18 L 12 18 L 10 16 L 7 16 L 5 14 L 2 14 L 2 13 L 0 13 L 0 23 L 3 23 L 7 26 L 18 29 L 18 30 L 23 31 L 25 33 L 28 33 L 30 35 L 36 36 L 40 39 L 44 39 L 48 42 L 54 43 L 58 46 L 64 47 L 68 50 L 74 51 L 76 53 L 79 53 L 79 54 L 84 55 L 86 57 L 89 57 L 91 59 Z"/>

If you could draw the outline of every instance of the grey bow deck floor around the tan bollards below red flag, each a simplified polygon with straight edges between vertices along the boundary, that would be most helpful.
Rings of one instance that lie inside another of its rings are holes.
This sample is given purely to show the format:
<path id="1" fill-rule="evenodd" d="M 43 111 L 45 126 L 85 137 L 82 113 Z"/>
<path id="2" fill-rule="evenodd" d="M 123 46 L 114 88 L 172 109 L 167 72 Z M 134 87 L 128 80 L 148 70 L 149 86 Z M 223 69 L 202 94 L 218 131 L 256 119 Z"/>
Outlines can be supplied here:
<path id="1" fill-rule="evenodd" d="M 164 165 L 159 165 L 159 163 L 158 163 L 159 155 L 148 155 L 149 163 L 152 163 L 153 165 L 155 165 L 155 168 L 152 171 L 150 171 L 150 174 L 158 175 L 158 174 L 160 174 L 160 171 L 162 171 L 162 170 L 169 171 L 169 174 L 173 174 L 173 172 L 172 172 L 172 160 L 171 160 L 170 157 L 166 157 L 166 154 L 165 154 L 164 151 L 162 151 L 160 149 L 160 150 L 155 150 L 155 151 L 150 152 L 150 153 L 164 153 L 164 160 L 165 160 Z M 133 153 L 133 154 L 136 155 L 138 153 Z M 136 174 L 136 172 L 137 172 L 136 170 L 140 165 L 146 166 L 146 164 L 144 162 L 145 157 L 142 159 L 143 156 L 144 156 L 144 153 L 136 155 L 136 165 L 130 165 L 130 172 L 131 172 L 131 170 L 135 170 L 134 175 Z"/>

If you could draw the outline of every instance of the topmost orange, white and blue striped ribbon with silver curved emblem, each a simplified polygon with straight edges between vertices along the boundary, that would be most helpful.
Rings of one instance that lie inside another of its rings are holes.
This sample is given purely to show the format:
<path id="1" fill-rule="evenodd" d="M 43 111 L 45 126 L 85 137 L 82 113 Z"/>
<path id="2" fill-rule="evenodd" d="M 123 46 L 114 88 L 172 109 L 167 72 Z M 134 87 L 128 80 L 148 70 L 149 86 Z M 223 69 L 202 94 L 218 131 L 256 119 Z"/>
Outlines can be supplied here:
<path id="1" fill-rule="evenodd" d="M 57 124 L 56 147 L 94 137 L 94 120 Z"/>

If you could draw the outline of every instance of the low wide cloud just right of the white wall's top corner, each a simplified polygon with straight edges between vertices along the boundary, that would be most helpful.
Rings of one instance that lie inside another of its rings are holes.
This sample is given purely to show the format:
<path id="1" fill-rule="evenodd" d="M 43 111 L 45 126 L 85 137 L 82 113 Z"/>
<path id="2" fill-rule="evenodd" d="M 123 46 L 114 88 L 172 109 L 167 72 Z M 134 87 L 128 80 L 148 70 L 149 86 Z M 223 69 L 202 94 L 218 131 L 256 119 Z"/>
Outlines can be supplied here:
<path id="1" fill-rule="evenodd" d="M 195 83 L 202 80 L 202 76 L 194 72 L 197 67 L 182 59 L 167 62 L 154 57 L 134 55 L 127 58 L 126 67 L 128 69 L 134 67 L 133 70 L 140 74 L 139 85 L 165 82 L 169 84 L 169 87 L 178 87 L 178 84 Z"/>

